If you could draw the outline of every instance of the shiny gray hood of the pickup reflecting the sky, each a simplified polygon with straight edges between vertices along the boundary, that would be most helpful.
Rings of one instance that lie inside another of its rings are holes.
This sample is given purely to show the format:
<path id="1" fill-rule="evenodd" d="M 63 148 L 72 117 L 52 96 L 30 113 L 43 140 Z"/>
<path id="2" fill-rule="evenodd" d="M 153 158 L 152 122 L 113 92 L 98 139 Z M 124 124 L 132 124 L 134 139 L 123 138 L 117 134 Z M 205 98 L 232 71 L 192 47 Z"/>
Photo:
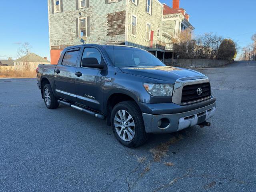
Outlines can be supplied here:
<path id="1" fill-rule="evenodd" d="M 170 66 L 155 66 L 155 67 L 124 67 L 120 68 L 124 73 L 142 76 L 155 80 L 158 83 L 174 84 L 178 78 L 204 76 L 202 73 Z"/>

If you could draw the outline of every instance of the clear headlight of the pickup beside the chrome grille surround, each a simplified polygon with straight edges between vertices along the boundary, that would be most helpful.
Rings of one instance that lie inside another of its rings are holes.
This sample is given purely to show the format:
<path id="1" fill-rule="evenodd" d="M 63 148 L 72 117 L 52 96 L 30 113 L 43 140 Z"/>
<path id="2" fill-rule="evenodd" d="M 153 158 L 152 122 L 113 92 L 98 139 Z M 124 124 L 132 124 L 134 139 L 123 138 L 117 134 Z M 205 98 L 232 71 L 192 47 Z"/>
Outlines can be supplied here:
<path id="1" fill-rule="evenodd" d="M 173 84 L 151 84 L 144 83 L 144 88 L 147 92 L 156 97 L 171 97 Z"/>

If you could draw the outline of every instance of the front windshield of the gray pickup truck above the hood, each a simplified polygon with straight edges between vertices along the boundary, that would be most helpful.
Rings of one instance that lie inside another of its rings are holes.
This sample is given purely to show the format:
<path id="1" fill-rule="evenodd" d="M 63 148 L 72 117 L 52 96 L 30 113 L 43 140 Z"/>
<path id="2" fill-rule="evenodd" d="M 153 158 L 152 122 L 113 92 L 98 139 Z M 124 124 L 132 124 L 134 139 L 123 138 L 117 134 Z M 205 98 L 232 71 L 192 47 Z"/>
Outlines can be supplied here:
<path id="1" fill-rule="evenodd" d="M 165 66 L 151 53 L 133 47 L 102 46 L 116 67 Z"/>

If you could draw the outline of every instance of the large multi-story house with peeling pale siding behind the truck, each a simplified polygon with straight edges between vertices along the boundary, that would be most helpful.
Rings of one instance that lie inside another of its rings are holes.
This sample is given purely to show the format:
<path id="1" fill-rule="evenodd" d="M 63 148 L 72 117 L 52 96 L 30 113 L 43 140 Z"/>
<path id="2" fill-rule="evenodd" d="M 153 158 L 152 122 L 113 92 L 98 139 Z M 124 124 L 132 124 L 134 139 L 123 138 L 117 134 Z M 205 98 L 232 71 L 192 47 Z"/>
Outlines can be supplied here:
<path id="1" fill-rule="evenodd" d="M 164 58 L 175 38 L 163 30 L 164 6 L 158 0 L 48 0 L 51 64 L 67 46 L 84 43 L 136 46 Z"/>

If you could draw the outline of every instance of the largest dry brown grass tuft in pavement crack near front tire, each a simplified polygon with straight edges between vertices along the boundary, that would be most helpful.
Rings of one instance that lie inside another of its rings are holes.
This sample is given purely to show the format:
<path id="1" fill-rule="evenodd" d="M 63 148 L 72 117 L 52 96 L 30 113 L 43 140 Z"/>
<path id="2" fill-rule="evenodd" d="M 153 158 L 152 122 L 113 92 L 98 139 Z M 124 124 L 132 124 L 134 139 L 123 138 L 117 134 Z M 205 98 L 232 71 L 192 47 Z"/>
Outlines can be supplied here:
<path id="1" fill-rule="evenodd" d="M 171 144 L 176 143 L 178 140 L 183 139 L 182 135 L 178 135 L 178 137 L 173 137 L 165 143 L 161 143 L 160 145 L 156 146 L 149 151 L 153 154 L 154 162 L 160 162 L 162 157 L 168 156 L 167 152 L 169 150 L 169 146 Z"/>

